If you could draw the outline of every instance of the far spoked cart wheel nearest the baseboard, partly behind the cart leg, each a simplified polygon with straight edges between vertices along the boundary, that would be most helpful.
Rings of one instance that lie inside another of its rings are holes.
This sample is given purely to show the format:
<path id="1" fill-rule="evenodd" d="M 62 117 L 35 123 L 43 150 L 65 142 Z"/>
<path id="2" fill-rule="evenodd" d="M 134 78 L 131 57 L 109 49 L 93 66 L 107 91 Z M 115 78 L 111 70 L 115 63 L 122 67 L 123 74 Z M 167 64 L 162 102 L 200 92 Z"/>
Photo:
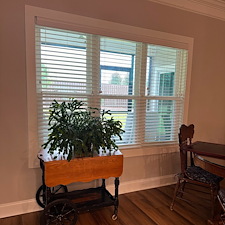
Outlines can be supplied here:
<path id="1" fill-rule="evenodd" d="M 36 192 L 36 201 L 38 205 L 41 206 L 42 208 L 44 208 L 46 205 L 46 195 L 44 194 L 43 189 L 44 189 L 43 185 L 41 185 Z M 51 195 L 54 195 L 54 194 L 68 192 L 67 187 L 64 185 L 58 185 L 52 188 L 46 187 L 46 190 L 50 192 L 49 198 Z"/>

